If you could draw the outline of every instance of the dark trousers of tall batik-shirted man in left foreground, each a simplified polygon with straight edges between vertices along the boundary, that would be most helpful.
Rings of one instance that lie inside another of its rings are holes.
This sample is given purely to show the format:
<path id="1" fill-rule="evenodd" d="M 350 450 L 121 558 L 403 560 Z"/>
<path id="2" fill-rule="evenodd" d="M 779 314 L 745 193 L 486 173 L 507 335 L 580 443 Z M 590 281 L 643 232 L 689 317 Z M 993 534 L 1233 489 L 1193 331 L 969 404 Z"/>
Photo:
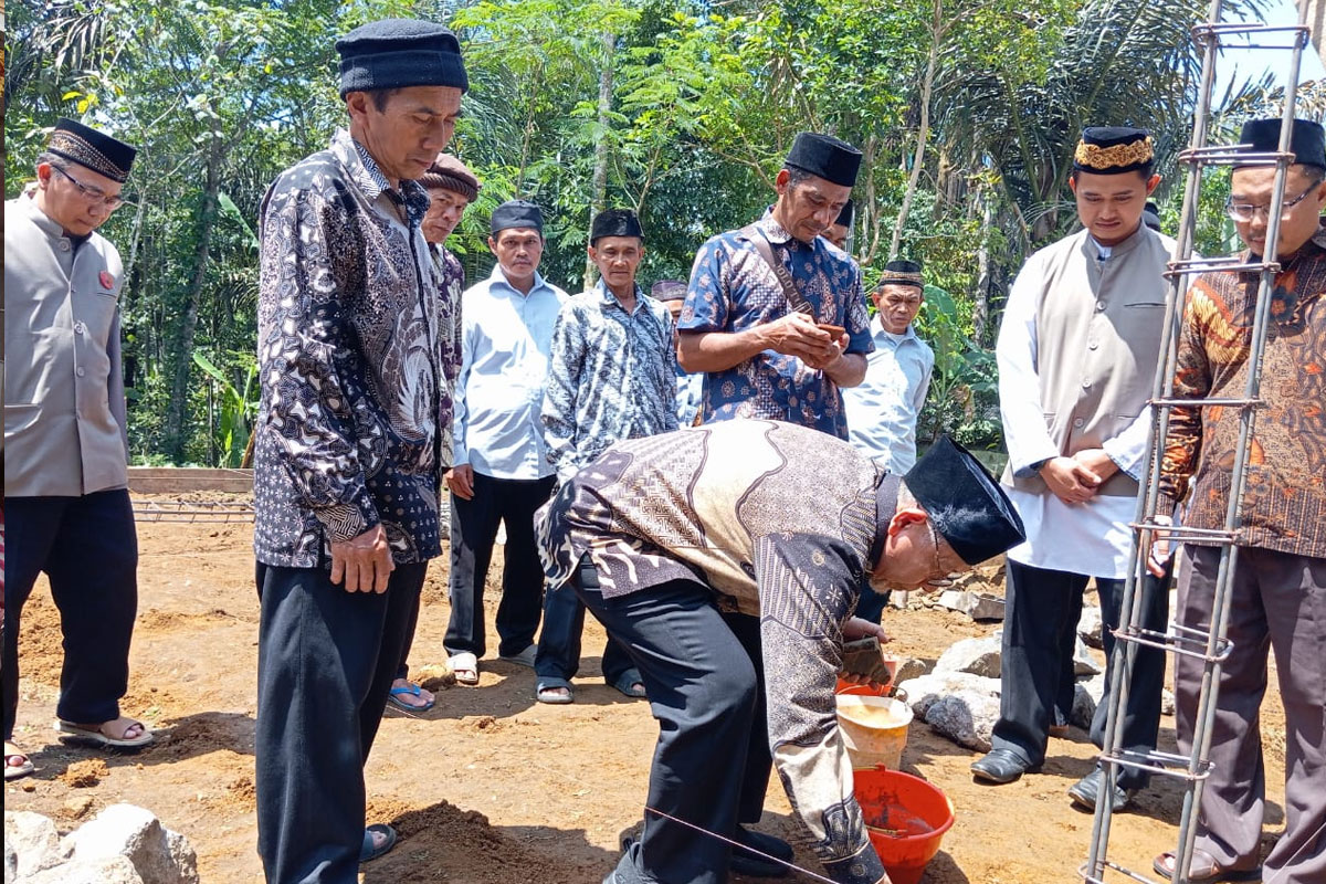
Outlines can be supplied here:
<path id="1" fill-rule="evenodd" d="M 346 592 L 324 569 L 259 563 L 257 848 L 269 884 L 355 884 L 363 762 L 400 663 L 427 563 L 386 592 Z"/>

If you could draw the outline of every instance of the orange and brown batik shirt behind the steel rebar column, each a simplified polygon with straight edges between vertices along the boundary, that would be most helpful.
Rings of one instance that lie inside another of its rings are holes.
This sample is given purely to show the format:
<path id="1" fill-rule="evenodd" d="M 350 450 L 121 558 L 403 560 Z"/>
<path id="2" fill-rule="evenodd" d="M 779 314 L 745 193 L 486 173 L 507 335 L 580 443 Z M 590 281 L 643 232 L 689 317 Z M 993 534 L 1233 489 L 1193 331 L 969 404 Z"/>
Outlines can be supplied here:
<path id="1" fill-rule="evenodd" d="M 1240 260 L 1260 258 L 1245 252 Z M 1253 425 L 1238 542 L 1326 558 L 1326 229 L 1281 264 L 1261 360 L 1264 404 Z M 1203 273 L 1193 280 L 1179 339 L 1176 398 L 1244 398 L 1260 281 L 1260 273 Z M 1238 408 L 1174 410 L 1160 512 L 1187 497 L 1187 525 L 1224 527 L 1238 431 Z"/>

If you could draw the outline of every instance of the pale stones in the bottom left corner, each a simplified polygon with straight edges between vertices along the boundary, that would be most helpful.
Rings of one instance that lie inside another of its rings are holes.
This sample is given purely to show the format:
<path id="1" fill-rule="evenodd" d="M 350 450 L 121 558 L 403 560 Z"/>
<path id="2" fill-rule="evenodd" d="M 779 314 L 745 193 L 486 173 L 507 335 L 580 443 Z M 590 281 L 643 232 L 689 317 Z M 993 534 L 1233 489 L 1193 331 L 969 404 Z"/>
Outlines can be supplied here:
<path id="1" fill-rule="evenodd" d="M 111 804 L 62 838 L 41 814 L 5 811 L 4 884 L 198 884 L 198 857 L 133 804 Z"/>

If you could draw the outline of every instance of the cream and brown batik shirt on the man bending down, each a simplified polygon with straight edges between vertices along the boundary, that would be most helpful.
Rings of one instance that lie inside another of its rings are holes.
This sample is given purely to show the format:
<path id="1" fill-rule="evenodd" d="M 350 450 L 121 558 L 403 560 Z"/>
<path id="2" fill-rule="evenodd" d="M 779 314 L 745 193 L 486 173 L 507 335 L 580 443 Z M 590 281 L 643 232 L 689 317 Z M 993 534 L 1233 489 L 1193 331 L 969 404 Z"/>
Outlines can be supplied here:
<path id="1" fill-rule="evenodd" d="M 838 732 L 842 626 L 857 607 L 883 477 L 850 444 L 768 420 L 618 443 L 534 517 L 550 592 L 582 557 L 605 598 L 668 580 L 760 616 L 769 745 L 835 881 L 878 881 Z"/>

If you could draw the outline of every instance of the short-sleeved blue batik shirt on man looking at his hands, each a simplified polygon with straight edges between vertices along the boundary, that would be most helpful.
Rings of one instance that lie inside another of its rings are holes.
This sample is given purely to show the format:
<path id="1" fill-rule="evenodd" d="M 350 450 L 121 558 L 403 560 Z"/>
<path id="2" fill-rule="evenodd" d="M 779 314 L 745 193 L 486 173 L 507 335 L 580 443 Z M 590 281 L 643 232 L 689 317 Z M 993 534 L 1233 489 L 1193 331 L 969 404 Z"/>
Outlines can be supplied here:
<path id="1" fill-rule="evenodd" d="M 847 330 L 847 353 L 870 353 L 870 317 L 855 262 L 823 237 L 797 240 L 765 212 L 757 223 L 773 256 L 792 272 L 814 321 Z M 737 333 L 786 315 L 792 306 L 773 268 L 741 231 L 721 233 L 695 256 L 691 286 L 678 329 Z M 704 378 L 705 423 L 769 417 L 847 437 L 842 394 L 823 371 L 797 357 L 765 350 L 727 371 Z"/>

